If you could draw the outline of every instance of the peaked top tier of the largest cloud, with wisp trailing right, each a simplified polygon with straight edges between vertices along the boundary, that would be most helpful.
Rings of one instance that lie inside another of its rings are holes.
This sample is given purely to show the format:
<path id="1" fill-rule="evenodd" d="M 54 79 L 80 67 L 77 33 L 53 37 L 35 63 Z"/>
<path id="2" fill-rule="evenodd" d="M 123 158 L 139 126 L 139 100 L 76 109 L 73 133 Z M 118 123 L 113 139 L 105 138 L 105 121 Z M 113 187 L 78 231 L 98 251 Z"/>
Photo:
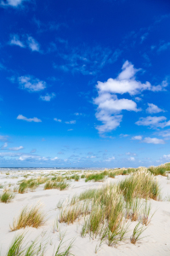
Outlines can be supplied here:
<path id="1" fill-rule="evenodd" d="M 124 94 L 129 93 L 130 95 L 139 94 L 143 90 L 165 90 L 167 86 L 166 81 L 162 81 L 159 85 L 151 85 L 150 82 L 145 82 L 142 84 L 140 81 L 135 79 L 135 74 L 139 72 L 140 69 L 133 67 L 133 64 L 129 61 L 125 61 L 122 66 L 122 72 L 119 73 L 116 79 L 108 79 L 106 82 L 98 82 L 96 85 L 100 92 L 110 92 Z"/>

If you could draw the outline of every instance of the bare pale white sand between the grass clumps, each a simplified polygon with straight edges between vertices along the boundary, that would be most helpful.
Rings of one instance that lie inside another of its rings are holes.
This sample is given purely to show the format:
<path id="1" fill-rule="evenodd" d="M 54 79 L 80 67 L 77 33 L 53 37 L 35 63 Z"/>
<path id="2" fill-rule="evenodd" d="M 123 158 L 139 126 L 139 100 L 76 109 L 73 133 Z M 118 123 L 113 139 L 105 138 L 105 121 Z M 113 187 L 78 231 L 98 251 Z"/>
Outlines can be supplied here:
<path id="1" fill-rule="evenodd" d="M 56 170 L 55 172 L 59 172 Z M 37 177 L 36 172 L 9 172 L 6 175 L 5 172 L 0 174 L 0 184 L 12 183 L 11 189 L 13 190 L 14 184 L 23 179 L 23 173 L 31 173 L 33 177 Z M 40 173 L 40 172 L 39 172 Z M 48 173 L 48 171 L 43 171 Z M 17 178 L 12 178 L 12 177 Z M 29 177 L 30 178 L 30 177 Z M 107 178 L 105 182 L 117 182 L 124 177 L 118 176 L 116 179 Z M 100 248 L 98 255 L 134 255 L 134 256 L 169 256 L 170 255 L 170 201 L 167 201 L 166 196 L 170 195 L 170 181 L 167 177 L 158 176 L 158 181 L 161 186 L 162 201 L 151 202 L 151 212 L 155 212 L 155 215 L 151 219 L 147 230 L 144 231 L 143 239 L 139 240 L 135 245 L 130 243 L 129 237 L 133 234 L 133 227 L 136 223 L 132 223 L 130 226 L 130 232 L 127 234 L 127 240 L 122 243 L 118 243 L 116 247 L 108 247 L 105 243 Z M 58 189 L 43 190 L 44 184 L 40 185 L 34 192 L 27 192 L 26 194 L 16 194 L 14 200 L 5 204 L 0 203 L 0 248 L 1 256 L 5 256 L 8 250 L 8 246 L 11 243 L 13 237 L 17 234 L 26 233 L 26 241 L 33 241 L 38 237 L 39 240 L 44 239 L 48 241 L 48 247 L 45 255 L 54 255 L 54 247 L 59 245 L 59 232 L 53 233 L 53 224 L 57 216 L 59 216 L 59 209 L 56 208 L 57 203 L 60 200 L 65 200 L 72 195 L 78 195 L 82 191 L 89 188 L 97 188 L 104 183 L 85 183 L 84 179 L 79 182 L 72 181 L 71 187 L 64 191 Z M 3 189 L 0 189 L 0 194 Z M 26 205 L 37 204 L 41 201 L 44 204 L 44 211 L 47 213 L 48 221 L 42 227 L 38 229 L 26 228 L 25 230 L 17 230 L 10 232 L 9 224 L 13 223 L 14 217 L 18 217 L 20 210 Z M 95 247 L 99 244 L 99 241 L 92 240 L 89 236 L 82 238 L 80 231 L 82 229 L 83 221 L 77 221 L 75 224 L 59 224 L 61 233 L 66 231 L 65 240 L 68 242 L 71 238 L 76 238 L 74 247 L 71 249 L 71 253 L 75 256 L 94 256 Z"/>

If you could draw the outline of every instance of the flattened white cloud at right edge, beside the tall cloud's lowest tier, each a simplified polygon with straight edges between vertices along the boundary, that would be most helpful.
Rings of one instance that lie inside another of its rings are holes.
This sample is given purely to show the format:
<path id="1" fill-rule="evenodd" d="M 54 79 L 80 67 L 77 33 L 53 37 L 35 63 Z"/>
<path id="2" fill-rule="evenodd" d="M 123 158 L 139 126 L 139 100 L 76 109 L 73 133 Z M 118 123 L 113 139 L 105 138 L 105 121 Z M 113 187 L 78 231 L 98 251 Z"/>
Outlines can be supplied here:
<path id="1" fill-rule="evenodd" d="M 170 121 L 167 121 L 167 118 L 165 116 L 147 116 L 146 118 L 139 118 L 139 121 L 137 121 L 136 125 L 144 125 L 144 126 L 150 126 L 152 128 L 161 127 L 164 128 L 166 126 L 170 125 Z"/>

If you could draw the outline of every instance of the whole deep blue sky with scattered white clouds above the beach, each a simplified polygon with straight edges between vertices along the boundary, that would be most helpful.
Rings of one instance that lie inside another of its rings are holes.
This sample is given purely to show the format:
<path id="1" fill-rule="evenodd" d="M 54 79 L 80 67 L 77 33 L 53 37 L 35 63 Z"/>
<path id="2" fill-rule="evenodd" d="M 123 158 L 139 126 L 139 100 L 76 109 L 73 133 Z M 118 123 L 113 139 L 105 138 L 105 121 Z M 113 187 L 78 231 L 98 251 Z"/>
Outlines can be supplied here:
<path id="1" fill-rule="evenodd" d="M 169 0 L 0 0 L 0 167 L 170 161 Z"/>

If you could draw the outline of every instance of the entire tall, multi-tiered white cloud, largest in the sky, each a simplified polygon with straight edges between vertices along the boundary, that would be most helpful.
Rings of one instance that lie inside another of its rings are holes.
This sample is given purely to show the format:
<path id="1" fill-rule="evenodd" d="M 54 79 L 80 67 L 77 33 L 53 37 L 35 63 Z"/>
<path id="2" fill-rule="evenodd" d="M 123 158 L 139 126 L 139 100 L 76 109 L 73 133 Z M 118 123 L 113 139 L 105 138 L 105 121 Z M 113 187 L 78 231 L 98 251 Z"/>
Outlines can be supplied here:
<path id="1" fill-rule="evenodd" d="M 130 96 L 141 93 L 143 90 L 165 90 L 167 82 L 163 81 L 159 85 L 151 85 L 149 82 L 141 83 L 135 78 L 135 74 L 140 69 L 133 67 L 129 61 L 125 61 L 122 66 L 122 72 L 118 74 L 116 79 L 108 79 L 106 82 L 98 82 L 96 89 L 98 96 L 94 98 L 94 104 L 98 106 L 96 118 L 103 123 L 97 125 L 96 129 L 100 134 L 112 131 L 120 125 L 122 121 L 123 110 L 139 112 L 136 102 L 129 99 L 118 99 L 116 94 L 128 93 Z M 140 98 L 136 97 L 138 101 Z"/>

